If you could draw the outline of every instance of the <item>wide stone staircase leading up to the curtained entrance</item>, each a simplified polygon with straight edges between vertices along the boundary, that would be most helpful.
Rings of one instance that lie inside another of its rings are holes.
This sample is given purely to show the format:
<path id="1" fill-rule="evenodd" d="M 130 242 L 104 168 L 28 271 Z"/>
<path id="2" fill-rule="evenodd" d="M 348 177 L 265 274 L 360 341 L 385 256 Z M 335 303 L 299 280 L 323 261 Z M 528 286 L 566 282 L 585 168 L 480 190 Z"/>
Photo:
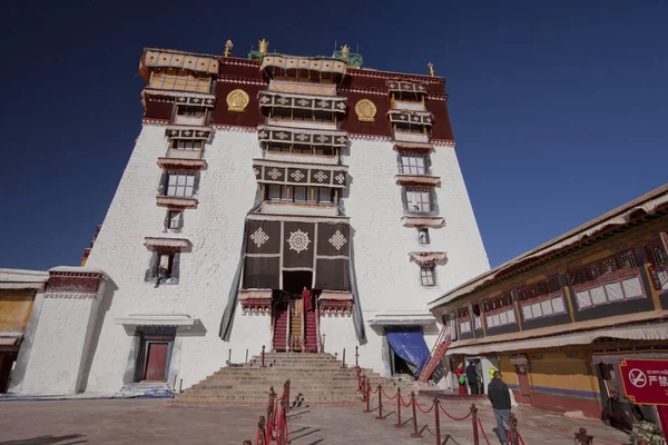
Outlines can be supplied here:
<path id="1" fill-rule="evenodd" d="M 265 406 L 269 387 L 281 395 L 291 380 L 291 404 L 347 406 L 362 403 L 354 368 L 342 368 L 331 354 L 267 353 L 262 367 L 256 356 L 243 367 L 224 367 L 177 395 L 178 406 Z M 405 386 L 362 368 L 373 387 Z M 298 406 L 297 405 L 297 406 Z"/>

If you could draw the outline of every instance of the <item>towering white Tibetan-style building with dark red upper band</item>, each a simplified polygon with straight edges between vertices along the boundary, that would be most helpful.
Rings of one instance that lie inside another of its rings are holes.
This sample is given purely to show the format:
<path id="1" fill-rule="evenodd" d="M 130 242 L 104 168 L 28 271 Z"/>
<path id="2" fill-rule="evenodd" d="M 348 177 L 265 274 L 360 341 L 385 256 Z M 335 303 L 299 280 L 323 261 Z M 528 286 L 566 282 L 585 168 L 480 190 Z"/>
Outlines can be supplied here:
<path id="1" fill-rule="evenodd" d="M 141 132 L 86 267 L 49 271 L 47 299 L 85 290 L 84 339 L 38 332 L 39 350 L 72 363 L 29 372 L 20 392 L 187 388 L 263 346 L 360 346 L 362 366 L 414 373 L 389 334 L 429 354 L 426 303 L 489 269 L 445 80 L 265 41 L 245 58 L 230 42 L 223 57 L 146 49 L 140 73 Z M 73 300 L 53 299 L 52 317 Z"/>

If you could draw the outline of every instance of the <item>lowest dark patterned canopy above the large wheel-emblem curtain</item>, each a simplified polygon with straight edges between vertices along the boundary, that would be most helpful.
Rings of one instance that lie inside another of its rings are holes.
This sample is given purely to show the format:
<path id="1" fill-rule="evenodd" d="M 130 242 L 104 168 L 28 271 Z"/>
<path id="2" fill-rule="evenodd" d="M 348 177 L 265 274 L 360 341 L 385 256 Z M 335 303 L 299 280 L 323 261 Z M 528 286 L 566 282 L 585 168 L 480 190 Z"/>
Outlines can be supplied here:
<path id="1" fill-rule="evenodd" d="M 258 182 L 345 188 L 347 181 L 346 166 L 254 159 L 253 171 Z"/>

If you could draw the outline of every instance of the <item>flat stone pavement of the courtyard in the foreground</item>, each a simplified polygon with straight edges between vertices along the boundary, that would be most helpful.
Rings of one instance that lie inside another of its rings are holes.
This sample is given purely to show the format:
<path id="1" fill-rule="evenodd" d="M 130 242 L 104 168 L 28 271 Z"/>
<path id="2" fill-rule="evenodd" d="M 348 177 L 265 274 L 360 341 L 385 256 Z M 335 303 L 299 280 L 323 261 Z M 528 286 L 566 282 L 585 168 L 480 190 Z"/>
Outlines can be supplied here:
<path id="1" fill-rule="evenodd" d="M 73 444 L 216 444 L 242 445 L 255 438 L 262 408 L 185 408 L 168 406 L 166 399 L 59 400 L 0 403 L 0 445 Z M 466 404 L 446 403 L 454 416 L 466 413 Z M 391 404 L 385 404 L 386 409 Z M 492 414 L 481 407 L 481 418 L 492 445 L 499 444 L 491 428 Z M 390 413 L 392 409 L 386 411 Z M 583 426 L 597 444 L 622 444 L 627 435 L 589 419 L 566 418 L 529 407 L 515 409 L 527 445 L 572 444 L 572 431 Z M 402 412 L 402 417 L 405 416 Z M 429 432 L 422 439 L 410 437 L 410 425 L 394 428 L 394 414 L 384 421 L 360 407 L 296 408 L 291 412 L 293 445 L 316 444 L 435 444 Z M 448 444 L 471 444 L 471 422 L 453 422 L 441 416 Z M 419 414 L 424 425 L 430 416 Z M 433 432 L 433 421 L 430 422 Z M 481 437 L 481 445 L 487 445 Z"/>

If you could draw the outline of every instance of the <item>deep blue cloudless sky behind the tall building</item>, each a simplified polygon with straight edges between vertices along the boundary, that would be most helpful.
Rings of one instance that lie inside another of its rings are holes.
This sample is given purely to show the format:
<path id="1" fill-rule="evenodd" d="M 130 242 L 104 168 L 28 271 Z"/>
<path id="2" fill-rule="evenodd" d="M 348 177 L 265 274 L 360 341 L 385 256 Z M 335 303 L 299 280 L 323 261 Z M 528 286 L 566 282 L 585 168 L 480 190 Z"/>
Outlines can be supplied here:
<path id="1" fill-rule="evenodd" d="M 0 267 L 78 265 L 140 131 L 144 47 L 337 41 L 381 70 L 433 62 L 492 266 L 668 177 L 665 1 L 8 0 L 1 16 Z"/>

